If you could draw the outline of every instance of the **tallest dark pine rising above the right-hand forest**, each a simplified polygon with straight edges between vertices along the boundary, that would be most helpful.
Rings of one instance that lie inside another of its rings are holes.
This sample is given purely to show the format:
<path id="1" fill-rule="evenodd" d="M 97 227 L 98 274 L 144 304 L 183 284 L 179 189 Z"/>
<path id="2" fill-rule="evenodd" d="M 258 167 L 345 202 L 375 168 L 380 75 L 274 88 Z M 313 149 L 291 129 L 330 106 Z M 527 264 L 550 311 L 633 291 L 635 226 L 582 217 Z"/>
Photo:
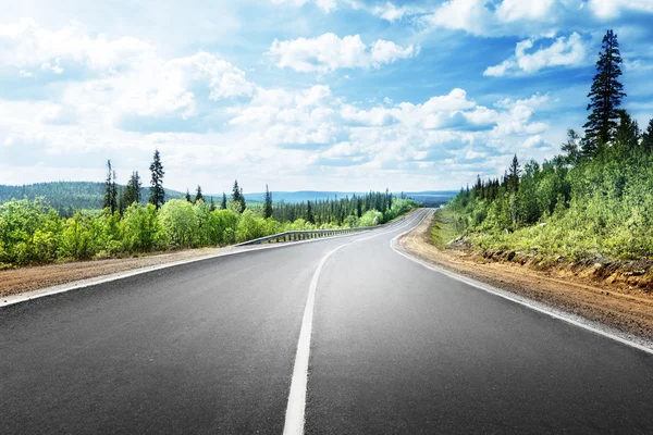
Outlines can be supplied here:
<path id="1" fill-rule="evenodd" d="M 586 137 L 582 147 L 583 154 L 588 158 L 595 157 L 602 146 L 615 138 L 616 120 L 619 117 L 617 110 L 621 105 L 621 99 L 626 97 L 624 85 L 619 82 L 620 64 L 617 35 L 607 30 L 596 62 L 596 75 L 588 94 L 590 103 L 587 110 L 591 110 L 591 113 L 583 126 Z"/>

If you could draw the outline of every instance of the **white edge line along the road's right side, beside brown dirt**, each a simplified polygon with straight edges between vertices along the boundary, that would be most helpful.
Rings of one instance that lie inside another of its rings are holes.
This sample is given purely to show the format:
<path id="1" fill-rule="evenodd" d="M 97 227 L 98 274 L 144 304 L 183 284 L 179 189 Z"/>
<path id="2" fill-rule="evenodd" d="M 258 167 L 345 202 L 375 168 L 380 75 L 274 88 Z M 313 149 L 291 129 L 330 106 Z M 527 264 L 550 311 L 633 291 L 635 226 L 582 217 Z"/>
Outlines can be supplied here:
<path id="1" fill-rule="evenodd" d="M 427 216 L 424 216 L 424 219 L 426 219 L 426 217 L 427 217 Z M 422 220 L 422 221 L 423 221 L 423 220 Z M 421 223 L 421 222 L 420 222 L 420 223 Z M 530 308 L 531 310 L 535 310 L 535 311 L 538 311 L 538 312 L 541 312 L 541 313 L 543 313 L 543 314 L 546 314 L 546 315 L 550 315 L 550 316 L 552 316 L 552 318 L 554 318 L 554 319 L 562 320 L 562 321 L 564 321 L 564 322 L 570 323 L 570 324 L 572 324 L 572 325 L 575 325 L 575 326 L 581 327 L 581 328 L 583 328 L 583 330 L 587 330 L 587 331 L 590 331 L 590 332 L 592 332 L 592 333 L 595 333 L 595 334 L 602 335 L 602 336 L 604 336 L 604 337 L 606 337 L 606 338 L 613 339 L 613 340 L 615 340 L 615 341 L 618 341 L 618 343 L 620 343 L 620 344 L 623 344 L 623 345 L 626 345 L 626 346 L 632 347 L 632 348 L 634 348 L 634 349 L 641 350 L 641 351 L 643 351 L 643 352 L 646 352 L 646 353 L 649 353 L 649 355 L 653 355 L 653 349 L 651 349 L 651 348 L 649 348 L 649 347 L 646 347 L 646 346 L 642 346 L 642 345 L 640 345 L 640 344 L 638 344 L 638 343 L 634 343 L 634 341 L 628 340 L 628 339 L 626 339 L 626 338 L 619 337 L 619 336 L 617 336 L 617 335 L 615 335 L 615 334 L 612 334 L 612 333 L 608 333 L 608 332 L 606 332 L 606 331 L 602 331 L 602 330 L 600 330 L 600 328 L 596 328 L 596 327 L 594 327 L 594 326 L 591 326 L 591 325 L 588 325 L 588 324 L 584 324 L 584 323 L 578 322 L 578 321 L 576 321 L 576 320 L 574 320 L 574 319 L 569 319 L 569 318 L 567 318 L 567 316 L 565 316 L 565 315 L 557 314 L 557 313 L 555 313 L 555 312 L 553 312 L 553 311 L 549 311 L 549 310 L 542 309 L 542 308 L 540 308 L 540 307 L 535 307 L 535 306 L 533 306 L 533 304 L 531 304 L 531 303 L 529 303 L 529 302 L 526 302 L 526 301 L 523 301 L 523 300 L 519 300 L 519 299 L 517 299 L 517 298 L 514 298 L 514 297 L 512 297 L 512 296 L 505 295 L 503 291 L 497 291 L 497 290 L 493 289 L 493 287 L 492 287 L 492 286 L 490 286 L 490 285 L 488 285 L 488 284 L 480 283 L 480 282 L 478 282 L 478 281 L 476 281 L 476 279 L 471 279 L 471 278 L 469 278 L 469 277 L 467 277 L 467 276 L 464 276 L 464 275 L 460 275 L 460 274 L 458 274 L 458 273 L 451 272 L 451 271 L 444 270 L 444 269 L 442 269 L 442 268 L 435 266 L 435 265 L 433 265 L 433 264 L 427 263 L 426 261 L 423 261 L 423 260 L 421 260 L 421 259 L 415 258 L 415 257 L 412 257 L 412 256 L 410 256 L 410 254 L 408 254 L 408 253 L 406 253 L 406 252 L 403 252 L 403 251 L 398 250 L 398 249 L 396 248 L 396 240 L 397 240 L 399 237 L 402 237 L 402 236 L 405 236 L 406 234 L 410 233 L 411 231 L 412 231 L 412 229 L 408 229 L 408 231 L 406 231 L 406 232 L 404 232 L 404 233 L 399 234 L 398 236 L 394 237 L 392 240 L 390 240 L 390 247 L 391 247 L 391 248 L 392 248 L 392 249 L 393 249 L 393 250 L 394 250 L 396 253 L 398 253 L 399 256 L 402 256 L 402 257 L 405 257 L 405 258 L 407 258 L 408 260 L 410 260 L 410 261 L 414 261 L 414 262 L 416 262 L 416 263 L 418 263 L 418 264 L 420 264 L 420 265 L 422 265 L 422 266 L 424 266 L 424 268 L 427 268 L 427 269 L 429 269 L 429 270 L 431 270 L 431 271 L 433 271 L 433 272 L 438 272 L 438 273 L 441 273 L 441 274 L 443 274 L 443 275 L 446 275 L 446 276 L 448 276 L 448 277 L 452 277 L 452 278 L 454 278 L 454 279 L 456 279 L 456 281 L 463 282 L 463 283 L 465 283 L 465 284 L 467 284 L 467 285 L 469 285 L 469 286 L 471 286 L 471 287 L 475 287 L 475 288 L 478 288 L 478 289 L 480 289 L 480 290 L 483 290 L 483 291 L 490 293 L 490 294 L 492 294 L 492 295 L 498 296 L 498 297 L 501 297 L 501 298 L 507 299 L 507 300 L 509 300 L 509 301 L 512 301 L 512 302 L 515 302 L 515 303 L 518 303 L 518 304 L 520 304 L 520 306 L 523 306 L 523 307 Z M 504 291 L 505 291 L 505 290 L 504 290 Z"/>

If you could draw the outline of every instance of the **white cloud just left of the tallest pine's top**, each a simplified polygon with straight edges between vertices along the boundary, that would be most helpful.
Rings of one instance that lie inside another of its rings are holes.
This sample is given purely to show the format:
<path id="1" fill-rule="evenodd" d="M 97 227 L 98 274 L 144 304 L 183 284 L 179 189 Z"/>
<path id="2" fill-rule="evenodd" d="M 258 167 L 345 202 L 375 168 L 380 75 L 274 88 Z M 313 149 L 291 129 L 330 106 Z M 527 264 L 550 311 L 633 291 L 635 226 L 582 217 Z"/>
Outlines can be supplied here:
<path id="1" fill-rule="evenodd" d="M 540 70 L 554 66 L 578 66 L 586 61 L 587 50 L 579 34 L 559 37 L 546 47 L 533 52 L 527 52 L 534 47 L 537 38 L 517 42 L 515 55 L 490 66 L 484 76 L 503 77 L 517 74 L 533 74 Z"/>

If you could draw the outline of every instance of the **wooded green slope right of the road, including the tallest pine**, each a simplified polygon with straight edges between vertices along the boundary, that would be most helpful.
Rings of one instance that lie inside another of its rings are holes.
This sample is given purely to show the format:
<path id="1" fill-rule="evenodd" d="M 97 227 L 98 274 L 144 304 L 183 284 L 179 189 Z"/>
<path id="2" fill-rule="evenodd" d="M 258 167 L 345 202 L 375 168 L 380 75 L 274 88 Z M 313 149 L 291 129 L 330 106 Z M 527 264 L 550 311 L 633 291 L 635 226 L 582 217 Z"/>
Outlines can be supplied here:
<path id="1" fill-rule="evenodd" d="M 481 249 L 645 259 L 653 256 L 653 120 L 623 109 L 617 35 L 603 38 L 583 135 L 542 164 L 514 157 L 503 177 L 464 188 L 440 213 Z M 435 235 L 434 235 L 435 236 Z"/>

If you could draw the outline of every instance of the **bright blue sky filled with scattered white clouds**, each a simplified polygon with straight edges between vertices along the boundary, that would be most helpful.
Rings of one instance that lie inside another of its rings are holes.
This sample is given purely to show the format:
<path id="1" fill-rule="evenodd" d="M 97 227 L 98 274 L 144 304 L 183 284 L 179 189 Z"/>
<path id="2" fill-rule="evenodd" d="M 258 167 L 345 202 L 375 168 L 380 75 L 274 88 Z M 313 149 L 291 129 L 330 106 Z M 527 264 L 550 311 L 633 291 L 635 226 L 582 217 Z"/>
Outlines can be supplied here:
<path id="1" fill-rule="evenodd" d="M 7 3 L 7 4 L 2 4 Z M 653 117 L 653 0 L 0 0 L 0 184 L 457 189 L 582 130 L 606 29 Z"/>

